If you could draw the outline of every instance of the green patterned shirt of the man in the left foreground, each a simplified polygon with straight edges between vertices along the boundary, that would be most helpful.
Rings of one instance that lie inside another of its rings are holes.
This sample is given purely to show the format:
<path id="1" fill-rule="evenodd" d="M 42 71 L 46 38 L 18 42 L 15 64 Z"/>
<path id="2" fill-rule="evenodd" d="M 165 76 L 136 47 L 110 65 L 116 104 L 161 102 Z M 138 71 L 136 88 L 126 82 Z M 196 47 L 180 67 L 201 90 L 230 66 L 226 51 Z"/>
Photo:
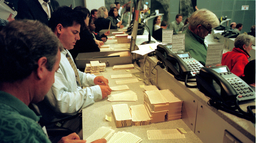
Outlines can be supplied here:
<path id="1" fill-rule="evenodd" d="M 50 143 L 37 123 L 40 117 L 18 98 L 0 91 L 0 142 Z"/>

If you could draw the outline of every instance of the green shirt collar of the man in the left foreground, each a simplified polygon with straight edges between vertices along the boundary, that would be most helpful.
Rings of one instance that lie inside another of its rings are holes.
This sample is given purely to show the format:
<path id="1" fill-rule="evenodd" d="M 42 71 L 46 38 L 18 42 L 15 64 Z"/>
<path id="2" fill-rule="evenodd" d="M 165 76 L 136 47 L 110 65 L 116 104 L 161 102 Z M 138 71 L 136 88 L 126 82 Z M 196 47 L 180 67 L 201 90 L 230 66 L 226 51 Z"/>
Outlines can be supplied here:
<path id="1" fill-rule="evenodd" d="M 25 103 L 7 92 L 0 91 L 0 103 L 12 107 L 21 115 L 33 119 L 34 121 L 38 122 L 40 119 L 40 116 L 36 116 L 36 114 Z"/>

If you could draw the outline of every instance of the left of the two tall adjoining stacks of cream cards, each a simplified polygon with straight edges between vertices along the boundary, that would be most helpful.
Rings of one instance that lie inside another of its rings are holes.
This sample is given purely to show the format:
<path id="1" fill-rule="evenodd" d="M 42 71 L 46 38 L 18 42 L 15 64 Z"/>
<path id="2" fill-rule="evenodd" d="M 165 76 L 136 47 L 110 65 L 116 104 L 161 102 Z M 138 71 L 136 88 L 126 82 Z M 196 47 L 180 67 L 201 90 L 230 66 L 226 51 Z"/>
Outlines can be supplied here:
<path id="1" fill-rule="evenodd" d="M 159 90 L 145 91 L 144 105 L 151 118 L 151 123 L 165 121 L 169 102 L 162 96 Z"/>

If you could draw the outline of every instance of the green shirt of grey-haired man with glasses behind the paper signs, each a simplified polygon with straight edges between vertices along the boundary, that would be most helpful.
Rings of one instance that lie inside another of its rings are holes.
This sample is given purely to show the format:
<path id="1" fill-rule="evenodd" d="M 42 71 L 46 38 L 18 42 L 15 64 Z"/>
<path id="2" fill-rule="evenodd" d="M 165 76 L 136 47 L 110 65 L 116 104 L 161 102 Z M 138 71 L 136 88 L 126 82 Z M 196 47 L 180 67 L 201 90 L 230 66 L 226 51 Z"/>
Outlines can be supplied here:
<path id="1" fill-rule="evenodd" d="M 207 46 L 204 44 L 204 39 L 194 34 L 188 28 L 182 34 L 185 34 L 185 52 L 189 52 L 193 58 L 205 66 Z"/>

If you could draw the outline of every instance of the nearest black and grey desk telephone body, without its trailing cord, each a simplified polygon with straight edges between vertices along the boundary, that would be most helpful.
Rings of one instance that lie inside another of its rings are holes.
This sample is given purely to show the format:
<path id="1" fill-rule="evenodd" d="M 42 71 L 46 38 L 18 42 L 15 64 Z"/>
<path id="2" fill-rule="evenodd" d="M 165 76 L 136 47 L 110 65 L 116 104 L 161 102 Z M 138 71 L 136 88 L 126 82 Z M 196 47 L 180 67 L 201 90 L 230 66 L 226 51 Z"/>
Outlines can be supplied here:
<path id="1" fill-rule="evenodd" d="M 197 87 L 206 96 L 221 102 L 254 100 L 255 92 L 227 66 L 203 67 L 196 74 Z"/>

